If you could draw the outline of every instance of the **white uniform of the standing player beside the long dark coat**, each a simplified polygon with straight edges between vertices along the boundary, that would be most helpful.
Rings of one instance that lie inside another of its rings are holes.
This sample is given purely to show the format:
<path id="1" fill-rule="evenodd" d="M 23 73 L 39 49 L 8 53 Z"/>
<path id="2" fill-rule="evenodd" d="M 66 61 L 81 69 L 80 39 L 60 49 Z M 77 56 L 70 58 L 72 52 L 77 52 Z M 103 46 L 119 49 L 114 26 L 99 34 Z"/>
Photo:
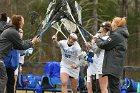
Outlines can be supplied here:
<path id="1" fill-rule="evenodd" d="M 103 40 L 107 40 L 109 36 L 102 37 Z M 91 44 L 91 48 L 94 52 L 93 57 L 93 63 L 89 63 L 88 69 L 87 69 L 87 82 L 90 82 L 90 76 L 96 75 L 96 78 L 98 79 L 98 75 L 102 74 L 102 67 L 103 67 L 103 60 L 104 60 L 104 49 L 100 49 L 96 46 L 96 43 Z"/>

